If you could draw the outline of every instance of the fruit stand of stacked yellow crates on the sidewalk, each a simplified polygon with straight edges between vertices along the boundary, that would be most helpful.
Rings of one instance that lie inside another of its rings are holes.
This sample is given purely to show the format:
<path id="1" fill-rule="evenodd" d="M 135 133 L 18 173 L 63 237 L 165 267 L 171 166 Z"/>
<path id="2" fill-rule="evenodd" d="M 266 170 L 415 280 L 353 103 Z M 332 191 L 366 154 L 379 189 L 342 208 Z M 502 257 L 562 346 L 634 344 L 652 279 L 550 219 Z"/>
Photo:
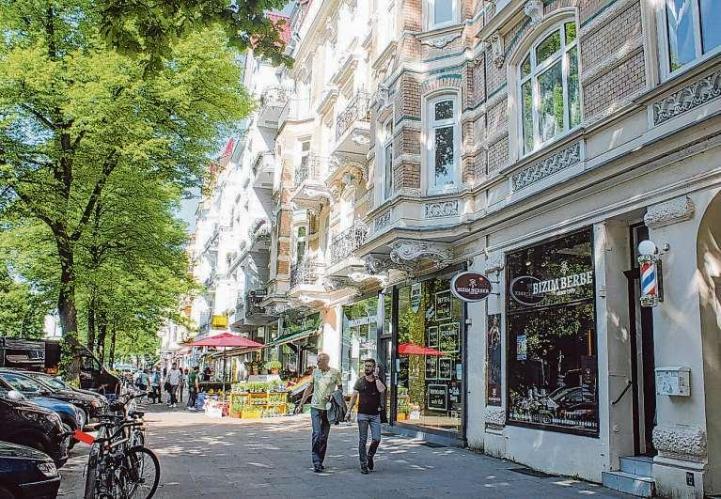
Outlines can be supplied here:
<path id="1" fill-rule="evenodd" d="M 242 382 L 232 386 L 230 417 L 270 418 L 288 414 L 288 392 L 279 381 Z"/>

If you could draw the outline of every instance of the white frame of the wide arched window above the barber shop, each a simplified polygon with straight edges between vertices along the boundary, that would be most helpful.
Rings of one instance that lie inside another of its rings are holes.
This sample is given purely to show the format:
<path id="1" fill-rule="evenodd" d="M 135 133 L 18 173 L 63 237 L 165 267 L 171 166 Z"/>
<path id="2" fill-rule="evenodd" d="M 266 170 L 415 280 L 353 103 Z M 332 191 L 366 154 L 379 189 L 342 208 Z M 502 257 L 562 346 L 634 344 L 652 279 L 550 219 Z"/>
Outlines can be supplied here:
<path id="1" fill-rule="evenodd" d="M 571 22 L 576 25 L 576 37 L 571 43 L 566 44 L 566 24 Z M 538 62 L 536 61 L 536 50 L 554 32 L 558 32 L 560 34 L 561 45 L 556 52 L 554 52 L 541 64 L 538 64 Z M 542 31 L 539 35 L 534 37 L 533 43 L 522 53 L 522 57 L 518 59 L 518 62 L 515 65 L 514 70 L 516 76 L 516 99 L 518 102 L 518 109 L 516 110 L 518 126 L 516 133 L 519 138 L 518 149 L 520 151 L 521 158 L 534 154 L 539 150 L 543 149 L 544 147 L 547 147 L 548 145 L 562 139 L 569 133 L 578 129 L 583 124 L 583 88 L 581 85 L 581 55 L 580 44 L 578 40 L 578 20 L 575 17 L 565 17 L 559 19 L 553 25 L 551 25 L 550 27 Z M 578 72 L 578 105 L 580 119 L 576 125 L 571 126 L 571 108 L 568 92 L 570 59 L 568 57 L 568 53 L 574 48 L 576 49 L 576 67 Z M 522 68 L 526 58 L 528 58 L 530 64 L 530 71 L 527 76 L 523 76 Z M 546 141 L 541 142 L 539 133 L 539 108 L 541 105 L 541 92 L 538 88 L 538 78 L 539 76 L 549 71 L 551 67 L 559 61 L 561 62 L 561 85 L 563 87 L 563 129 L 560 133 L 557 133 L 553 137 L 546 139 Z M 533 127 L 533 147 L 530 150 L 526 151 L 525 134 L 523 128 L 523 85 L 528 81 L 531 82 L 531 126 Z"/>

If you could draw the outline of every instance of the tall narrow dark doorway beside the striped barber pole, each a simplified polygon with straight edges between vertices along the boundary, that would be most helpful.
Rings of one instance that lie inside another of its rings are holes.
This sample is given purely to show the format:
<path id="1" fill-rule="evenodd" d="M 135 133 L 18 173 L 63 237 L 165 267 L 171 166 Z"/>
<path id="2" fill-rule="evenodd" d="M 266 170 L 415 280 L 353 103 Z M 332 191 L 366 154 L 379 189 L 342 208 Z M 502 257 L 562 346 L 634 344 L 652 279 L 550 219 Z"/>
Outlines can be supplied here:
<path id="1" fill-rule="evenodd" d="M 653 456 L 652 432 L 656 425 L 656 374 L 653 353 L 653 313 L 640 305 L 638 243 L 648 239 L 648 227 L 631 227 L 631 270 L 628 280 L 628 316 L 631 333 L 631 389 L 633 393 L 634 453 Z"/>

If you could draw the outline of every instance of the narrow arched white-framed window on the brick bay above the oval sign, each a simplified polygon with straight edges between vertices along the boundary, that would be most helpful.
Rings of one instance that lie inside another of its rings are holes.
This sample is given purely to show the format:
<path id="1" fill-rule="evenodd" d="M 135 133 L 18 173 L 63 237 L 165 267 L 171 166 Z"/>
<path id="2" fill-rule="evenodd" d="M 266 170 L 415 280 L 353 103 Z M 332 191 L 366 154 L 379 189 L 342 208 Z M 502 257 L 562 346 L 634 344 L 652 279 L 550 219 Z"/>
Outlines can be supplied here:
<path id="1" fill-rule="evenodd" d="M 456 96 L 444 95 L 428 106 L 428 191 L 439 192 L 458 183 L 458 103 Z"/>

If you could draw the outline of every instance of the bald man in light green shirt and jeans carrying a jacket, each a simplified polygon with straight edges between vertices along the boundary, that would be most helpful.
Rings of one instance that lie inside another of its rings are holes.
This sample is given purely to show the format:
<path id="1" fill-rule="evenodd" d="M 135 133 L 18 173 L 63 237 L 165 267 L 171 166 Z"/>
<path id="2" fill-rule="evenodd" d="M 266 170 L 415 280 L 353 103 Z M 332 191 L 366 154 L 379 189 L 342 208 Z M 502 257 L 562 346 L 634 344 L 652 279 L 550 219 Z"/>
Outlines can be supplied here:
<path id="1" fill-rule="evenodd" d="M 313 382 L 303 392 L 300 405 L 296 408 L 296 413 L 300 412 L 308 397 L 311 393 L 313 394 L 310 402 L 310 419 L 313 425 L 311 450 L 315 473 L 320 473 L 325 469 L 323 461 L 328 449 L 328 435 L 330 434 L 330 422 L 328 421 L 330 397 L 341 385 L 340 371 L 330 367 L 329 362 L 328 354 L 318 354 L 318 367 L 313 370 Z"/>

